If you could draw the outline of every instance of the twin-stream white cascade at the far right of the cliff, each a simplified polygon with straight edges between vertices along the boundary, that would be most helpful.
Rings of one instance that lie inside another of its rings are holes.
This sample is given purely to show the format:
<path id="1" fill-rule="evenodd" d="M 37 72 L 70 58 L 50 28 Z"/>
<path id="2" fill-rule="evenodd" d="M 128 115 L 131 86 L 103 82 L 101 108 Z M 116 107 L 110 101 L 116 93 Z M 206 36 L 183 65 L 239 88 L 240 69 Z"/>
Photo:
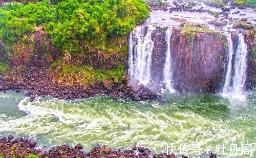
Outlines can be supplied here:
<path id="1" fill-rule="evenodd" d="M 230 39 L 229 39 L 230 38 Z M 232 47 L 231 36 L 228 36 L 229 57 L 228 67 L 225 76 L 223 94 L 232 98 L 244 98 L 243 87 L 246 80 L 247 67 L 247 46 L 244 41 L 244 36 L 239 34 L 237 49 L 234 52 Z M 233 66 L 231 65 L 232 54 L 234 52 Z"/>

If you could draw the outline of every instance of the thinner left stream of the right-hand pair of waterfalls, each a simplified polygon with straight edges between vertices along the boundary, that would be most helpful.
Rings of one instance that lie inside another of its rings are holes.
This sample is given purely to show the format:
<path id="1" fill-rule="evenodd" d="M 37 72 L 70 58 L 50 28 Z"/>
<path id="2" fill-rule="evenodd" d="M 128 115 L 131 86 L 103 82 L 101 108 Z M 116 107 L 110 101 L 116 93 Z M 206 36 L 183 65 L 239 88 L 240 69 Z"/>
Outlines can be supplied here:
<path id="1" fill-rule="evenodd" d="M 231 39 L 231 34 L 227 33 L 227 51 L 228 51 L 228 63 L 227 63 L 227 70 L 226 70 L 226 75 L 225 75 L 225 81 L 224 81 L 224 86 L 223 86 L 223 94 L 227 94 L 229 91 L 230 87 L 230 82 L 232 78 L 232 56 L 233 56 L 233 43 Z"/>

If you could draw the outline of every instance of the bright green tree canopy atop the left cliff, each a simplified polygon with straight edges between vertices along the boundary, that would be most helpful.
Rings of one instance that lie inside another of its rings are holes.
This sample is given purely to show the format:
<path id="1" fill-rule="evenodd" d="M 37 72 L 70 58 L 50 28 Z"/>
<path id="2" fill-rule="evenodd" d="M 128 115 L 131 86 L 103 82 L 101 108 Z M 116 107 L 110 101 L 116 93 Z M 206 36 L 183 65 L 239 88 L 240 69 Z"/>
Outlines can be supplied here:
<path id="1" fill-rule="evenodd" d="M 0 40 L 10 49 L 45 24 L 53 44 L 75 54 L 81 51 L 81 41 L 104 48 L 109 38 L 127 36 L 149 14 L 144 0 L 64 0 L 56 5 L 45 0 L 2 6 Z"/>

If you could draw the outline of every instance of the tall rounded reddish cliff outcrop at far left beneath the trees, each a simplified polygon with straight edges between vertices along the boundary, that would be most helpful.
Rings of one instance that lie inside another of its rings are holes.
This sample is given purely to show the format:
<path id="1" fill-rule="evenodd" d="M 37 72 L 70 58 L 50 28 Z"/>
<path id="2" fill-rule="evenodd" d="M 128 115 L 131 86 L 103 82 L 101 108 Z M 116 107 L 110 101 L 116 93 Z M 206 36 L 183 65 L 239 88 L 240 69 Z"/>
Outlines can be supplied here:
<path id="1" fill-rule="evenodd" d="M 48 34 L 37 31 L 29 34 L 26 41 L 16 42 L 8 54 L 14 66 L 48 67 L 59 56 Z"/>

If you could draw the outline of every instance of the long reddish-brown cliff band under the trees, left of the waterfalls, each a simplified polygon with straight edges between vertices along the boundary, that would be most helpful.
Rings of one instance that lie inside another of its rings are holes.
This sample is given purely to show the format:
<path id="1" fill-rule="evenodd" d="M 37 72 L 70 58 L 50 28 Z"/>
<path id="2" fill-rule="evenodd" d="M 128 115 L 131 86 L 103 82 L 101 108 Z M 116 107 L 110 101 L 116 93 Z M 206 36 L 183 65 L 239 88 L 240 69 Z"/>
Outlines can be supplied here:
<path id="1" fill-rule="evenodd" d="M 116 41 L 120 48 L 126 47 L 126 39 Z M 69 52 L 59 51 L 53 44 L 50 36 L 43 30 L 28 35 L 26 41 L 16 42 L 11 51 L 5 50 L 4 44 L 0 41 L 0 61 L 8 61 L 12 66 L 35 66 L 49 67 L 51 63 L 60 59 L 62 63 L 69 65 L 90 64 L 93 68 L 113 69 L 117 64 L 126 64 L 125 53 L 112 50 L 111 53 L 89 50 L 83 46 L 87 54 L 72 55 Z"/>

